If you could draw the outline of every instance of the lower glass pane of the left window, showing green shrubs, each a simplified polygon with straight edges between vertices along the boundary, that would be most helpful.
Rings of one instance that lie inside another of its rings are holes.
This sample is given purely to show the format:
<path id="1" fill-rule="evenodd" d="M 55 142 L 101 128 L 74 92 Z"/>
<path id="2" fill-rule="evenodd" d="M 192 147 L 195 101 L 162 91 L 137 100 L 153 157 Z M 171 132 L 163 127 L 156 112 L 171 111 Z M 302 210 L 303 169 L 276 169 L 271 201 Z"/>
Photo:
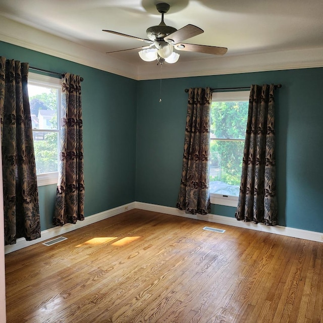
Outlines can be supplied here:
<path id="1" fill-rule="evenodd" d="M 58 170 L 58 132 L 34 131 L 34 149 L 37 174 Z"/>

